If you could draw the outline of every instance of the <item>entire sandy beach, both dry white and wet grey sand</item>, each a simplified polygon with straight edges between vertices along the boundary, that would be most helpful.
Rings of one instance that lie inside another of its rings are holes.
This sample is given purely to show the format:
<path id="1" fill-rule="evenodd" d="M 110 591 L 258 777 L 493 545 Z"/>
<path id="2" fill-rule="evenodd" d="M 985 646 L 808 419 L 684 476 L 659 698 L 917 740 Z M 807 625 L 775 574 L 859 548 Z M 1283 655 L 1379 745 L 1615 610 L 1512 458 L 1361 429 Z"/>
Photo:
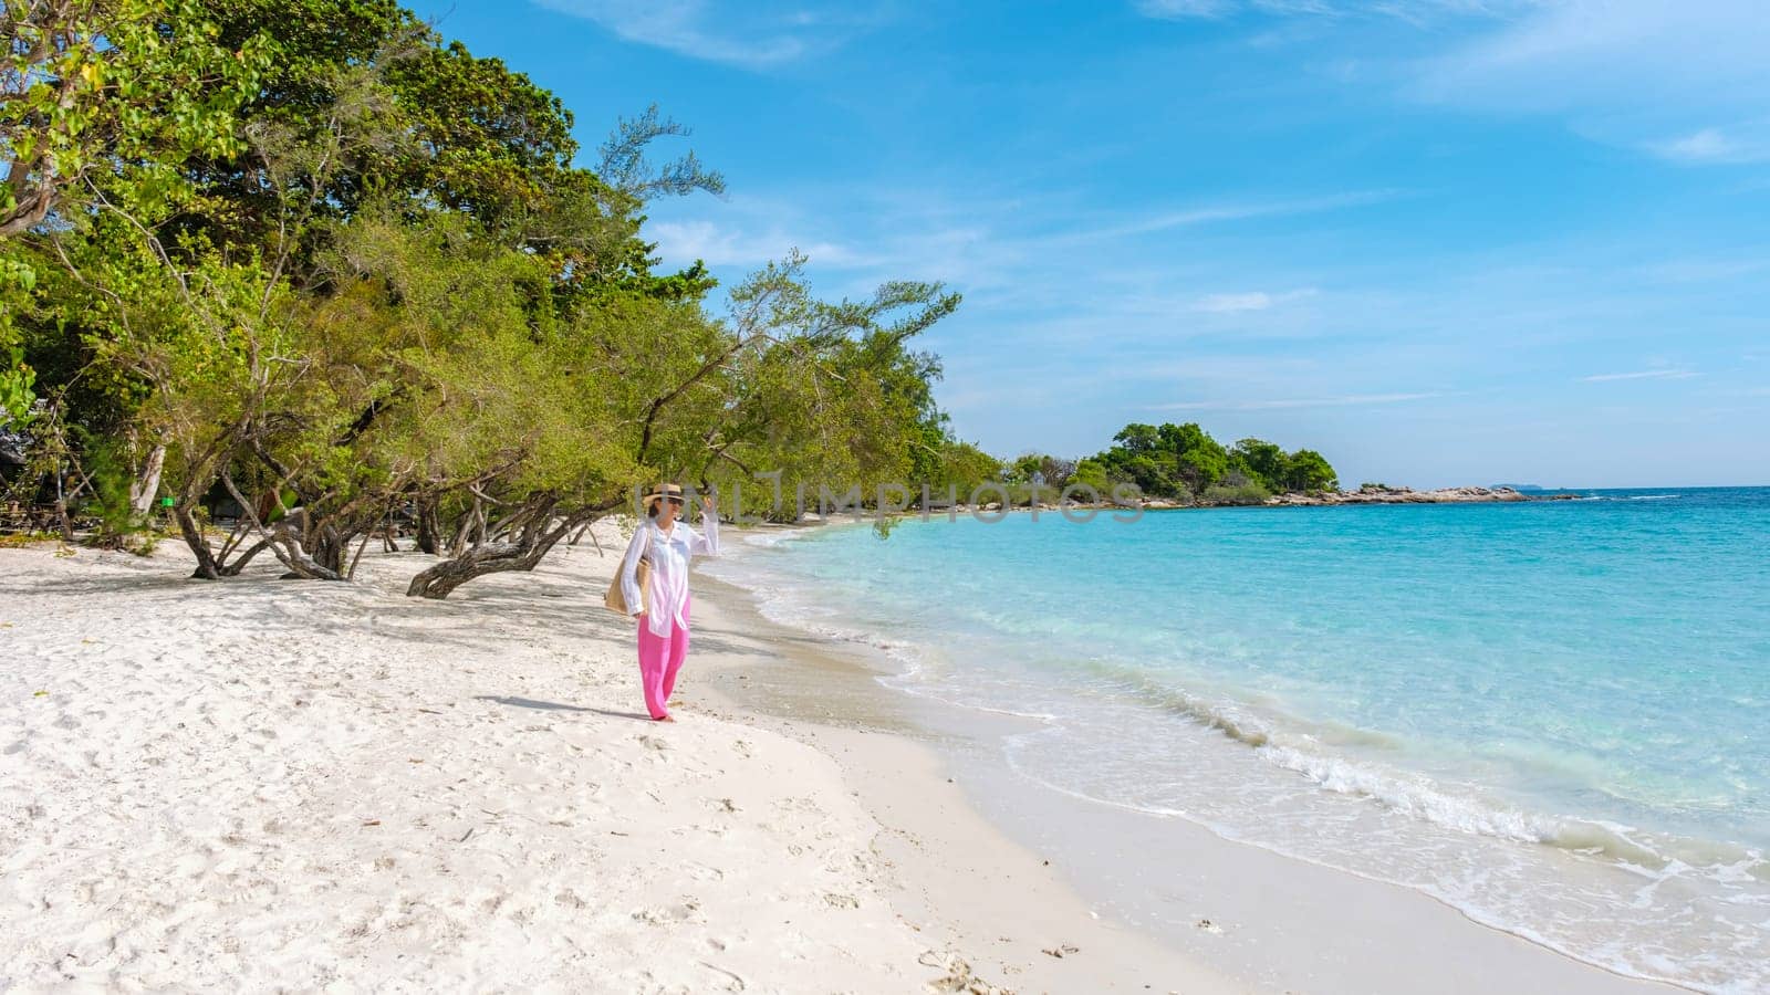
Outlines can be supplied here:
<path id="1" fill-rule="evenodd" d="M 0 559 L 0 988 L 1673 990 L 1028 793 L 989 749 L 1016 719 L 881 687 L 704 574 L 658 726 L 589 545 L 448 602 L 398 593 L 416 554 L 358 584 Z M 1131 924 L 1124 875 L 1197 915 Z"/>

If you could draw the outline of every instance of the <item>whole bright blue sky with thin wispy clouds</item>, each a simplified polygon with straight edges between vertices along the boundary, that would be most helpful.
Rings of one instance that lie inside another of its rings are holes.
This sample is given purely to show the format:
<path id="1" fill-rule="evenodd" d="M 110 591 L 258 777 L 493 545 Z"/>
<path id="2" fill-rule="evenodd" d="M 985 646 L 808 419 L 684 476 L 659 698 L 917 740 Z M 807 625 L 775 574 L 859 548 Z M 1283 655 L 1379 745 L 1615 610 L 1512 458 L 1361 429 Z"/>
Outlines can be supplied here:
<path id="1" fill-rule="evenodd" d="M 650 103 L 727 283 L 965 292 L 924 345 L 988 450 L 1127 421 L 1342 482 L 1770 483 L 1759 0 L 451 0 L 588 149 Z"/>

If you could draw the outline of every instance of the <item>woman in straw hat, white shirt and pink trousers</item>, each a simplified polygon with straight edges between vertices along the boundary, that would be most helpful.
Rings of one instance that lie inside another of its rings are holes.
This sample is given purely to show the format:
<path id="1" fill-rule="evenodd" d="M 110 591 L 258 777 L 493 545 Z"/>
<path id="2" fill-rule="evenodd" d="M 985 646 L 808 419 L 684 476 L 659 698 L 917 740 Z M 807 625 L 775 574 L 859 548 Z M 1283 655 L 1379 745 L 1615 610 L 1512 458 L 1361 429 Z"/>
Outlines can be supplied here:
<path id="1" fill-rule="evenodd" d="M 678 521 L 681 487 L 666 483 L 646 494 L 646 521 L 621 559 L 621 598 L 639 620 L 639 685 L 646 712 L 658 722 L 674 722 L 669 696 L 676 689 L 676 671 L 689 655 L 689 558 L 719 556 L 719 508 L 701 496 L 701 522 L 706 535 Z M 651 563 L 648 600 L 639 591 L 639 561 Z"/>

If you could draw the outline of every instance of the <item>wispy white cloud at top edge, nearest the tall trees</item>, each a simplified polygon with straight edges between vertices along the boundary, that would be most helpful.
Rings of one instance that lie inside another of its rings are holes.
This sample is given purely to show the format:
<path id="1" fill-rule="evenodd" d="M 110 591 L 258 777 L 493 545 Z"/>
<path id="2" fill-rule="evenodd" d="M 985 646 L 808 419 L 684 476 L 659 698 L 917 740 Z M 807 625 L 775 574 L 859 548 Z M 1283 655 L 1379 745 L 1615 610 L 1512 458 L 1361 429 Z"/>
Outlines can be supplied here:
<path id="1" fill-rule="evenodd" d="M 766 69 L 839 48 L 880 21 L 871 5 L 816 14 L 765 0 L 535 0 L 614 35 L 690 58 Z"/>

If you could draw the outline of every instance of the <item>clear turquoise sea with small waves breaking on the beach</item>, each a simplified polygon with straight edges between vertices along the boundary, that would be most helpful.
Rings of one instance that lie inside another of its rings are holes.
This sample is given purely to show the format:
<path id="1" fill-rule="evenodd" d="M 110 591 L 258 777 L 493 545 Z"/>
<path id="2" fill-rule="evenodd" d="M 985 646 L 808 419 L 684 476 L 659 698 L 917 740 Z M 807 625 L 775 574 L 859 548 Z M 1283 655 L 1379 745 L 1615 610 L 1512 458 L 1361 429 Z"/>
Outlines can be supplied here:
<path id="1" fill-rule="evenodd" d="M 1035 719 L 1012 770 L 1770 990 L 1770 489 L 758 533 L 712 572 Z"/>

